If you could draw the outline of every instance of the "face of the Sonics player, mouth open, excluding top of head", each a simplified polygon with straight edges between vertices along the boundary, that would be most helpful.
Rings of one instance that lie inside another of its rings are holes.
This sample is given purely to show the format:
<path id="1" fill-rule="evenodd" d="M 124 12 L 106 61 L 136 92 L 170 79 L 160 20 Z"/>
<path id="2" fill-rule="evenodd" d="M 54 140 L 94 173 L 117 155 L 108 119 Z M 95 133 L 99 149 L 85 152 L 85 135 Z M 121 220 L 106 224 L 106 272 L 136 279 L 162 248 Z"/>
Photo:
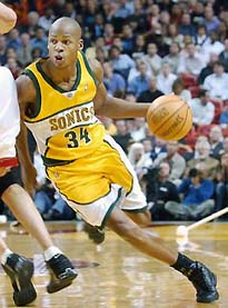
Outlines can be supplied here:
<path id="1" fill-rule="evenodd" d="M 49 33 L 48 41 L 49 57 L 57 68 L 66 68 L 75 64 L 78 50 L 82 49 L 82 40 L 76 31 L 53 28 Z"/>

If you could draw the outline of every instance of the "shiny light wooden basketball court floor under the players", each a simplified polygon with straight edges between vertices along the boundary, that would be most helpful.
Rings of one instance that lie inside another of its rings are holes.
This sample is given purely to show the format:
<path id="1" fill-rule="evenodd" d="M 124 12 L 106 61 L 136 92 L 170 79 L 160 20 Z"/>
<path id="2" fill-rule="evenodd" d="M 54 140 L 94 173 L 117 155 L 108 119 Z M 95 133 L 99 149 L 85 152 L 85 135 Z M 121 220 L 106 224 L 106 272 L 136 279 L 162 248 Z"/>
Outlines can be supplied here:
<path id="1" fill-rule="evenodd" d="M 218 276 L 220 298 L 214 304 L 197 304 L 195 289 L 179 272 L 150 259 L 108 230 L 106 241 L 95 246 L 75 222 L 48 223 L 54 242 L 78 267 L 73 284 L 49 295 L 49 276 L 38 244 L 24 232 L 13 232 L 8 225 L 0 234 L 9 246 L 36 266 L 33 282 L 38 298 L 29 307 L 39 308 L 202 308 L 228 307 L 228 223 L 209 222 L 191 230 L 189 240 L 177 242 L 177 226 L 152 226 L 171 247 L 204 261 Z M 0 307 L 14 307 L 11 285 L 0 270 Z"/>

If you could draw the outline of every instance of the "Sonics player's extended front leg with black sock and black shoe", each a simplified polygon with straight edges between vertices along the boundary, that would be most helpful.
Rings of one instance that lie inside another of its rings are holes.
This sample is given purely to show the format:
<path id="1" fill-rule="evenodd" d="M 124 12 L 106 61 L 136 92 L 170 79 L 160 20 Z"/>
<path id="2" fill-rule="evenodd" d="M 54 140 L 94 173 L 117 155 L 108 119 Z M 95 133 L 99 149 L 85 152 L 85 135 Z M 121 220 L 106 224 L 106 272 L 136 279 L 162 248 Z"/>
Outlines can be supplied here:
<path id="1" fill-rule="evenodd" d="M 138 250 L 182 272 L 196 288 L 197 301 L 218 299 L 216 276 L 205 265 L 166 247 L 160 238 L 141 229 L 118 207 L 111 211 L 107 226 Z"/>

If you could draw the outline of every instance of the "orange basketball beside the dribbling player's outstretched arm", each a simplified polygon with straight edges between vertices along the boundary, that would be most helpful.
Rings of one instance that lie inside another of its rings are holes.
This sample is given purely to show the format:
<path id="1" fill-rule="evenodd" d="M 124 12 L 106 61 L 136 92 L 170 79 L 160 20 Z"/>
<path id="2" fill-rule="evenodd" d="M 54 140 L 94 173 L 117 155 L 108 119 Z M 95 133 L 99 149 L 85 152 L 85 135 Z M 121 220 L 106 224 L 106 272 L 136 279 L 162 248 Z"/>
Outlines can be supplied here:
<path id="1" fill-rule="evenodd" d="M 191 108 L 178 96 L 161 96 L 151 102 L 147 123 L 156 137 L 166 141 L 180 140 L 191 129 Z"/>

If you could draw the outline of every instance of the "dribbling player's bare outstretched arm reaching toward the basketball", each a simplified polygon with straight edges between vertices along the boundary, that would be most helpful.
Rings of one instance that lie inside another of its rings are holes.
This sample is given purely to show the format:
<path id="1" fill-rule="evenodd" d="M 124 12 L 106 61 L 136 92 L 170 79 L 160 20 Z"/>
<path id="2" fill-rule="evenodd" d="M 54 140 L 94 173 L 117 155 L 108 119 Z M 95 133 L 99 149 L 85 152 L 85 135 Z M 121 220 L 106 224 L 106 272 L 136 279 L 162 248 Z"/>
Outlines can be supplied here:
<path id="1" fill-rule="evenodd" d="M 97 60 L 90 60 L 90 67 L 98 80 L 97 95 L 95 97 L 95 112 L 98 116 L 112 119 L 142 118 L 146 117 L 149 103 L 132 103 L 123 99 L 113 98 L 107 95 L 103 85 L 103 70 Z"/>

